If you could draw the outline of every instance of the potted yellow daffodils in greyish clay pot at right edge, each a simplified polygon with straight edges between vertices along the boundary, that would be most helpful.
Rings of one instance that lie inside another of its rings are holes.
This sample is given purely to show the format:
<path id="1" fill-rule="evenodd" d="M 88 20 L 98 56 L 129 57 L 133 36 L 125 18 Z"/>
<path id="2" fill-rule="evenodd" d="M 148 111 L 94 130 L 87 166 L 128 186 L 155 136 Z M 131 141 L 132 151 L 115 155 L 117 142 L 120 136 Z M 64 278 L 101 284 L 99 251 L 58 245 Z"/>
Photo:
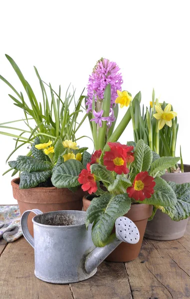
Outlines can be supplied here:
<path id="1" fill-rule="evenodd" d="M 135 114 L 131 109 L 135 143 L 142 138 L 159 156 L 175 156 L 179 124 L 172 105 L 159 103 L 158 99 L 155 101 L 153 90 L 150 109 L 145 110 L 143 107 L 142 111 L 140 103 L 135 100 Z M 183 164 L 182 153 L 181 164 L 167 167 L 162 178 L 173 187 L 178 202 L 170 208 L 155 207 L 155 216 L 150 218 L 151 221 L 147 224 L 145 237 L 155 240 L 175 240 L 183 237 L 190 216 L 190 165 Z"/>

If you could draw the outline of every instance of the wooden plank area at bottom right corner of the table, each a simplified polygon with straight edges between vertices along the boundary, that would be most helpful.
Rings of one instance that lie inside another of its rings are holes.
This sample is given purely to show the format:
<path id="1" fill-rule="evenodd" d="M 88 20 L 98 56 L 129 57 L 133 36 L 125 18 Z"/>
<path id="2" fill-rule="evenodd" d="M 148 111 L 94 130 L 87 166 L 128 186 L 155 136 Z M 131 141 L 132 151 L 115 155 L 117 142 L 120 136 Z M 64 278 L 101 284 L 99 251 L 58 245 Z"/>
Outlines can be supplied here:
<path id="1" fill-rule="evenodd" d="M 187 267 L 190 263 L 186 249 L 177 244 L 177 241 L 146 239 L 139 257 L 125 264 L 134 299 L 190 298 L 190 276 L 182 268 L 185 262 Z M 178 260 L 177 256 L 182 253 L 182 259 Z"/>

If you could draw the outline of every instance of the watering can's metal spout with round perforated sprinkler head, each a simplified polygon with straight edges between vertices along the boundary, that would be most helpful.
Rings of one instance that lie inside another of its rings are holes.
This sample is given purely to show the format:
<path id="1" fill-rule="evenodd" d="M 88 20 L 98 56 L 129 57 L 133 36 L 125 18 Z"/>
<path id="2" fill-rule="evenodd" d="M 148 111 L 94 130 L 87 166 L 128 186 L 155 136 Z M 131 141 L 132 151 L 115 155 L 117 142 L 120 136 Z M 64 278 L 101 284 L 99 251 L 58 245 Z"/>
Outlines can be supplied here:
<path id="1" fill-rule="evenodd" d="M 85 270 L 91 273 L 100 265 L 103 260 L 114 250 L 121 242 L 136 244 L 139 242 L 140 234 L 135 223 L 129 218 L 122 216 L 116 219 L 116 236 L 111 243 L 105 247 L 96 247 L 86 257 Z"/>

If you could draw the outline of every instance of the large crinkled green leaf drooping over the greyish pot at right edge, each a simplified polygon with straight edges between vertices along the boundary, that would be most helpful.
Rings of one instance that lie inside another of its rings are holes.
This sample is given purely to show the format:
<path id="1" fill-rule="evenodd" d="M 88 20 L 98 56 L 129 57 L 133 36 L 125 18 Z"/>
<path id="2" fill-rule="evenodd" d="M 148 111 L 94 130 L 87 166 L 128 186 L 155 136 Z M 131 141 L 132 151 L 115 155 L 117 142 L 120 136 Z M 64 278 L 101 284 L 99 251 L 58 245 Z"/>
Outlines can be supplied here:
<path id="1" fill-rule="evenodd" d="M 190 183 L 177 184 L 168 182 L 176 193 L 177 203 L 170 207 L 158 206 L 158 208 L 174 221 L 180 221 L 190 217 Z"/>

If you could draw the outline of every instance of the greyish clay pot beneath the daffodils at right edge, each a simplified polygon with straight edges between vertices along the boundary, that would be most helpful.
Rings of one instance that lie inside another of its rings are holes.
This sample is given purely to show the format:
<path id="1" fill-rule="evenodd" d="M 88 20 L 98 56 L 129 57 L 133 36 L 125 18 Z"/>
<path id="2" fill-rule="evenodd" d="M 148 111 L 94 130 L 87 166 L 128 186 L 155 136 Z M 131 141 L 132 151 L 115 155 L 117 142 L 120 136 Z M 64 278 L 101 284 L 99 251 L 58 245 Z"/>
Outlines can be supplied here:
<path id="1" fill-rule="evenodd" d="M 190 165 L 184 165 L 184 173 L 165 173 L 162 178 L 178 184 L 190 183 Z M 189 218 L 188 218 L 189 219 Z M 147 224 L 145 238 L 152 240 L 177 240 L 184 236 L 188 219 L 173 221 L 167 214 L 157 210 L 153 220 Z"/>

